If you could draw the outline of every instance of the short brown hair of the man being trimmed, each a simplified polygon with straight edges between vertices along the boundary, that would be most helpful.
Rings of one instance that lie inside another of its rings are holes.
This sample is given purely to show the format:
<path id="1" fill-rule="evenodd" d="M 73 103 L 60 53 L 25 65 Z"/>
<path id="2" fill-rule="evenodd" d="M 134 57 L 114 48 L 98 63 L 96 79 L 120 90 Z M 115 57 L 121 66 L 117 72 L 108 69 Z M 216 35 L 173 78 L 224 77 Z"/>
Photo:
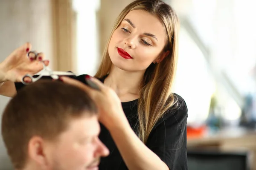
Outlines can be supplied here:
<path id="1" fill-rule="evenodd" d="M 81 89 L 59 81 L 39 80 L 17 92 L 2 117 L 2 136 L 15 168 L 26 164 L 32 136 L 54 140 L 70 118 L 96 115 L 93 100 Z"/>

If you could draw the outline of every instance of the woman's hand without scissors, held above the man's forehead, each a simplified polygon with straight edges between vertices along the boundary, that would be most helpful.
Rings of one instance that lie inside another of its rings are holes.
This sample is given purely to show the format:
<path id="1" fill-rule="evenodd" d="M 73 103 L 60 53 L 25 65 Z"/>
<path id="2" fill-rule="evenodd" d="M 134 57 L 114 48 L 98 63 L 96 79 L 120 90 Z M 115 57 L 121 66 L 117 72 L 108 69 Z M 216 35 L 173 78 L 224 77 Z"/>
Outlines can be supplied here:
<path id="1" fill-rule="evenodd" d="M 111 88 L 105 86 L 102 82 L 94 77 L 87 77 L 86 81 L 91 81 L 99 87 L 99 90 L 90 88 L 84 83 L 71 79 L 69 77 L 61 77 L 63 82 L 70 85 L 75 85 L 89 94 L 99 109 L 99 122 L 101 122 L 109 130 L 113 127 L 122 125 L 124 122 L 128 122 L 125 113 L 122 109 L 122 104 Z"/>

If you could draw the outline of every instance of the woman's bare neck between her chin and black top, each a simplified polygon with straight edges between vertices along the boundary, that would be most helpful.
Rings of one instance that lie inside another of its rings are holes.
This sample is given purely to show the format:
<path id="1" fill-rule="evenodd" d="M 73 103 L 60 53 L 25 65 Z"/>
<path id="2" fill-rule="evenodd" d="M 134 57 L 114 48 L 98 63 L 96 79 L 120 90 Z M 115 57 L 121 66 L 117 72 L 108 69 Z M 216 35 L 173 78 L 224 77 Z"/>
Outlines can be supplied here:
<path id="1" fill-rule="evenodd" d="M 144 73 L 145 71 L 123 71 L 113 66 L 104 84 L 112 88 L 122 102 L 128 102 L 139 98 L 139 85 Z"/>

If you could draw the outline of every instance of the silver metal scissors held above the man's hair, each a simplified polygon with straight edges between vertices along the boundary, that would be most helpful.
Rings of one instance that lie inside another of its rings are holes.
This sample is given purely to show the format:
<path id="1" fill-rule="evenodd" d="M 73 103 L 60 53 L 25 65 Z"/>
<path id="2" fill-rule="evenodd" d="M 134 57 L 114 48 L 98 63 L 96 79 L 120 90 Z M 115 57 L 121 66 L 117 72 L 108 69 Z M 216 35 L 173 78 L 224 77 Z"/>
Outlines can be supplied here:
<path id="1" fill-rule="evenodd" d="M 38 57 L 38 53 L 36 53 L 35 51 L 29 51 L 27 53 L 27 57 L 30 57 L 29 54 L 33 54 L 34 55 L 34 58 L 36 59 Z M 33 77 L 32 75 L 30 74 L 26 74 L 25 76 L 23 76 L 23 78 L 21 79 L 21 82 L 24 84 L 24 85 L 29 85 L 31 84 L 32 82 L 36 82 L 38 81 L 39 79 L 41 79 L 41 77 L 43 76 L 49 76 L 51 77 L 52 79 L 58 79 L 60 75 L 65 75 L 65 76 L 76 76 L 74 73 L 72 72 L 64 72 L 64 71 L 52 71 L 50 68 L 48 68 L 43 61 L 40 61 L 43 65 L 43 70 L 45 73 L 44 74 L 40 74 L 38 75 L 38 77 Z M 27 83 L 24 81 L 24 79 L 26 77 L 29 77 L 31 79 L 31 82 Z"/>

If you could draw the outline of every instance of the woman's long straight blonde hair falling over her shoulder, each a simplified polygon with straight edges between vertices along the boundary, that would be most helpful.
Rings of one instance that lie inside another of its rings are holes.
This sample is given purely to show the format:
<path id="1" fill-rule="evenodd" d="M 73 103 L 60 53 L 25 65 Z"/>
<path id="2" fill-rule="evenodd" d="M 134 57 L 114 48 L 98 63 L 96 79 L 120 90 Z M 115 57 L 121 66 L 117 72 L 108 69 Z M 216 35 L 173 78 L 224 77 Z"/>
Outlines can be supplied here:
<path id="1" fill-rule="evenodd" d="M 109 74 L 111 70 L 111 59 L 108 54 L 108 45 L 113 32 L 124 19 L 125 15 L 132 10 L 145 10 L 159 18 L 166 29 L 167 43 L 164 48 L 170 53 L 162 62 L 154 65 L 153 63 L 146 69 L 138 99 L 138 119 L 139 129 L 138 136 L 145 143 L 148 136 L 156 125 L 170 108 L 177 107 L 177 97 L 172 94 L 171 88 L 175 78 L 177 63 L 177 36 L 178 36 L 178 18 L 175 11 L 161 0 L 136 0 L 130 3 L 119 14 L 110 37 L 108 39 L 102 62 L 99 66 L 95 77 L 102 78 Z"/>

